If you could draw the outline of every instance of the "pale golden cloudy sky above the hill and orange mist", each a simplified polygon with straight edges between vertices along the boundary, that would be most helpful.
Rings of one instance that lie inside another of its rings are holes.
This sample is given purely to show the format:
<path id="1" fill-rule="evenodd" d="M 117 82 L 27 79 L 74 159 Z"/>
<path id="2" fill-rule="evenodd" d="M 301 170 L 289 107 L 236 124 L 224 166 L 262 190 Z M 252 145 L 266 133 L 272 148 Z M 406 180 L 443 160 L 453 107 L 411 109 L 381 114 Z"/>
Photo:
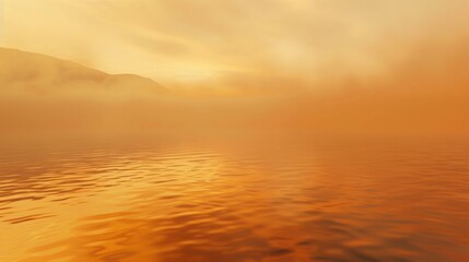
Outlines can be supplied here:
<path id="1" fill-rule="evenodd" d="M 167 85 L 384 75 L 468 29 L 467 0 L 0 0 L 1 46 Z"/>

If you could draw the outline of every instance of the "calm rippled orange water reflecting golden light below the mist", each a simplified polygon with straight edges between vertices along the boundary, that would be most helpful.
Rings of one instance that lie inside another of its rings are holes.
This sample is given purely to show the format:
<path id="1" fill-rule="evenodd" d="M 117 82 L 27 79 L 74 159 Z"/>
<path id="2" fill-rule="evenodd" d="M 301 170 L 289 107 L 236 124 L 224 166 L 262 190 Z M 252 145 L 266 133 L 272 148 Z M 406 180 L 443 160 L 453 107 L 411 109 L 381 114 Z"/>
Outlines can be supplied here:
<path id="1" fill-rule="evenodd" d="M 469 261 L 467 141 L 3 144 L 2 262 Z"/>

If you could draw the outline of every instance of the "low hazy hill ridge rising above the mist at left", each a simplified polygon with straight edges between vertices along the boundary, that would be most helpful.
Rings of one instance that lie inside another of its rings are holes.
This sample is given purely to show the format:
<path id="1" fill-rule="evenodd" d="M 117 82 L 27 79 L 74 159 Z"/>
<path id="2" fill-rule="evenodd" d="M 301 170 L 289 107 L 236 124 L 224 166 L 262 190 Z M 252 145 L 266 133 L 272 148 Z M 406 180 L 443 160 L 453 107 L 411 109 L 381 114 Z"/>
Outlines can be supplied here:
<path id="1" fill-rule="evenodd" d="M 71 61 L 7 48 L 0 48 L 0 83 L 2 94 L 5 92 L 49 94 L 69 88 L 110 93 L 117 90 L 167 93 L 162 85 L 139 75 L 108 74 Z"/>

